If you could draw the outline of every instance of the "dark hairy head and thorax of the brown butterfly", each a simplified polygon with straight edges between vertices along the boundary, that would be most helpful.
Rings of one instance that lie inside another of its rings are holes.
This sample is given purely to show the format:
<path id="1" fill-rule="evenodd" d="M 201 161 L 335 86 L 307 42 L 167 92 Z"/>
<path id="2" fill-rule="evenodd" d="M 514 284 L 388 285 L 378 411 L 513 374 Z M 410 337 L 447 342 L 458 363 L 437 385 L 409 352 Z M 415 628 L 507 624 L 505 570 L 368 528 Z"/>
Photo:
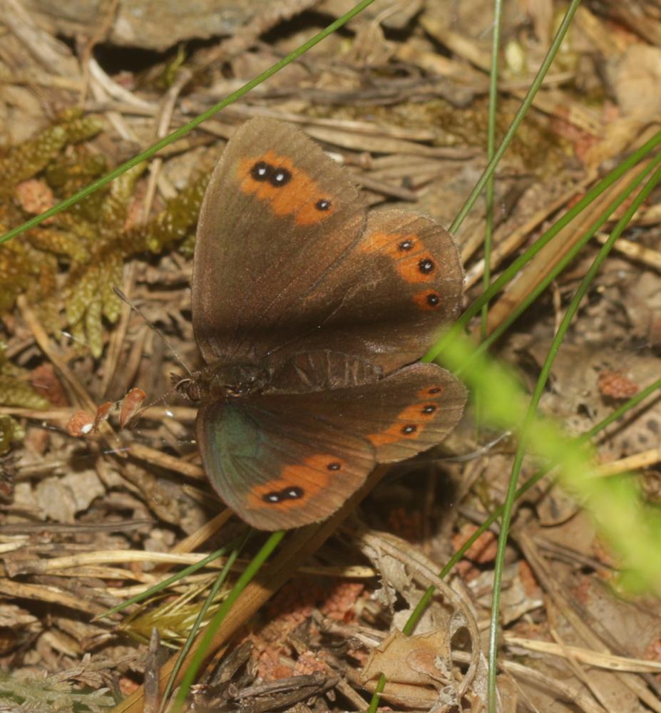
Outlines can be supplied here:
<path id="1" fill-rule="evenodd" d="M 270 371 L 260 364 L 207 364 L 178 384 L 191 401 L 231 399 L 263 391 Z"/>

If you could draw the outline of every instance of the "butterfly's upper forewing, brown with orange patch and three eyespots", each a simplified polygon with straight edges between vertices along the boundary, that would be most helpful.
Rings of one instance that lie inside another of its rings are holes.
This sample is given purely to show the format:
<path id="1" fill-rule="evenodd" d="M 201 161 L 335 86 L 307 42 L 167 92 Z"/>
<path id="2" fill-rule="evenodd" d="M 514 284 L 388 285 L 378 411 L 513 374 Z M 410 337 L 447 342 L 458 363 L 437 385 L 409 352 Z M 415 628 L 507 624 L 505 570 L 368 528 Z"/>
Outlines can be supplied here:
<path id="1" fill-rule="evenodd" d="M 365 220 L 347 173 L 306 135 L 269 119 L 242 125 L 198 224 L 193 327 L 205 361 L 258 361 L 299 340 L 314 326 L 299 309 L 303 295 L 357 242 Z"/>

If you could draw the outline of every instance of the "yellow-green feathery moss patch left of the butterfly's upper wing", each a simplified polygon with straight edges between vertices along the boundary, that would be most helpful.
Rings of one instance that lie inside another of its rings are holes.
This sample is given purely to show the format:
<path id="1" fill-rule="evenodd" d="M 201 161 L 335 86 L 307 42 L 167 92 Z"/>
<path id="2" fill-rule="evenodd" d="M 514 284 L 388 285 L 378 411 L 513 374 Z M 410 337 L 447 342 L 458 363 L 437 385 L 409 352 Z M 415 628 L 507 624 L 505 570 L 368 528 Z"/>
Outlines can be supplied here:
<path id="1" fill-rule="evenodd" d="M 21 181 L 41 174 L 61 200 L 108 170 L 105 158 L 91 153 L 86 145 L 63 153 L 63 148 L 80 144 L 101 128 L 98 119 L 68 111 L 0 159 L 0 230 L 26 219 L 14 198 Z M 116 322 L 120 314 L 121 301 L 113 286 L 122 282 L 125 261 L 145 252 L 170 250 L 186 238 L 190 251 L 209 180 L 209 175 L 194 180 L 159 215 L 127 228 L 135 182 L 144 169 L 145 164 L 136 166 L 53 217 L 48 225 L 0 245 L 0 312 L 11 309 L 16 297 L 26 293 L 46 329 L 59 334 L 64 326 L 60 316 L 63 295 L 66 327 L 93 356 L 101 356 L 103 319 Z M 62 270 L 66 271 L 63 289 L 58 282 Z"/>

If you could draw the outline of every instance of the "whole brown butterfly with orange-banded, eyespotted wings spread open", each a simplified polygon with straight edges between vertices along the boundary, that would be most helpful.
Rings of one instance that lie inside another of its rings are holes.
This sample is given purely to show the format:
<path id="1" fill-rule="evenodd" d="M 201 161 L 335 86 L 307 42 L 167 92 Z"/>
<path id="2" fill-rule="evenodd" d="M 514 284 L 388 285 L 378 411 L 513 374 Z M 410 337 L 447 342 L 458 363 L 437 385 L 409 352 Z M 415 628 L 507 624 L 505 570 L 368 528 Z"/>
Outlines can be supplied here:
<path id="1" fill-rule="evenodd" d="M 238 128 L 200 212 L 192 307 L 206 366 L 185 389 L 227 506 L 261 530 L 324 520 L 376 463 L 449 434 L 466 391 L 414 362 L 462 286 L 436 222 L 368 214 L 346 170 L 292 125 Z"/>

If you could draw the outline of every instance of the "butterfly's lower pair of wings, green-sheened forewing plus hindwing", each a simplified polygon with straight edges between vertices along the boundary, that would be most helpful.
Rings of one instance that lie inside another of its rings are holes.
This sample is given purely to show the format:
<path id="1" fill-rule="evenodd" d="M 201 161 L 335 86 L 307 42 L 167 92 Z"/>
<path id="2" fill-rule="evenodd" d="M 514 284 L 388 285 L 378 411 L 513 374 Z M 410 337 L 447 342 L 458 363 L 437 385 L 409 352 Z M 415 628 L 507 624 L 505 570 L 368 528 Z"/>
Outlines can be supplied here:
<path id="1" fill-rule="evenodd" d="M 198 442 L 210 481 L 242 519 L 299 527 L 334 513 L 375 463 L 441 441 L 465 399 L 449 372 L 414 364 L 358 386 L 206 404 Z"/>

